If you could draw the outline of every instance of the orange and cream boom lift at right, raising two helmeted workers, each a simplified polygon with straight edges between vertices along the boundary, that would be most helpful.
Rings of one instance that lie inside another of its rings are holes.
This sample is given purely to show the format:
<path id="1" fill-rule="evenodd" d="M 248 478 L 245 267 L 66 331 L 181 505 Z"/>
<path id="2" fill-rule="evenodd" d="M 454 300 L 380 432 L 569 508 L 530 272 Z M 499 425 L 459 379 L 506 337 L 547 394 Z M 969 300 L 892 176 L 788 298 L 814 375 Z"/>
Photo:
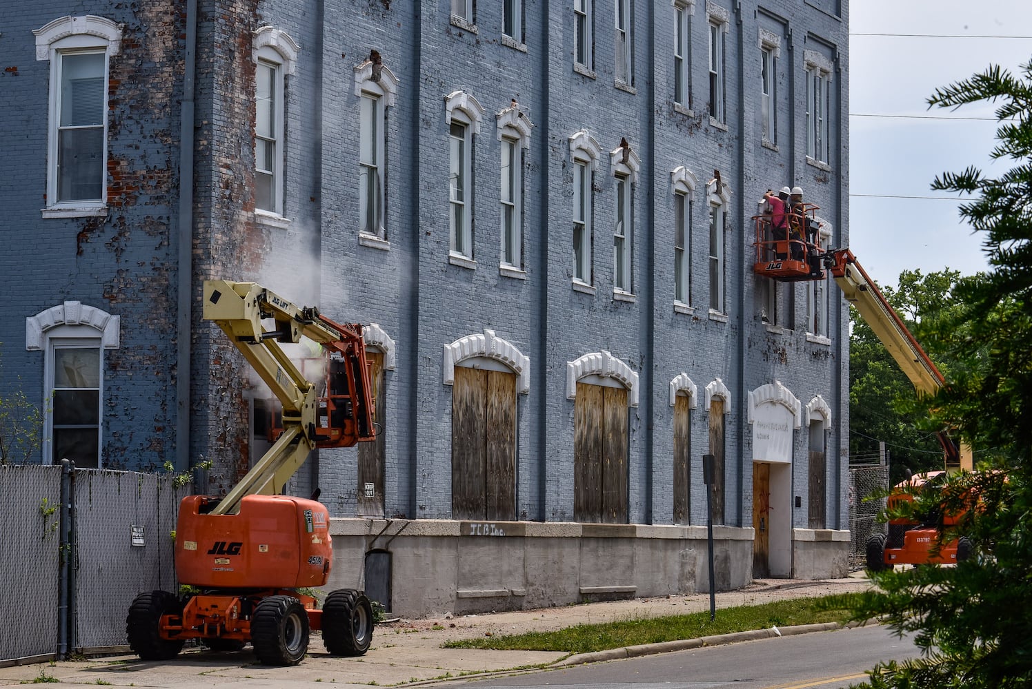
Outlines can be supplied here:
<path id="1" fill-rule="evenodd" d="M 805 218 L 816 222 L 817 206 L 805 204 Z M 802 218 L 795 222 L 803 225 Z M 812 243 L 796 238 L 777 240 L 772 237 L 770 218 L 755 216 L 756 258 L 753 272 L 781 282 L 814 281 L 825 278 L 825 269 L 831 270 L 835 284 L 842 290 L 846 300 L 857 307 L 864 321 L 877 335 L 882 346 L 910 380 L 920 394 L 933 395 L 944 385 L 939 369 L 922 349 L 913 334 L 892 307 L 878 286 L 857 261 L 848 249 L 824 250 L 819 236 Z M 796 245 L 798 244 L 798 245 Z M 939 445 L 942 447 L 946 471 L 970 471 L 973 468 L 971 449 L 958 446 L 945 431 L 940 431 Z M 935 479 L 942 471 L 917 474 L 896 486 L 889 498 L 890 505 L 897 500 L 911 499 L 914 490 L 928 487 L 934 489 Z M 867 566 L 883 569 L 894 564 L 944 564 L 965 559 L 970 553 L 966 539 L 952 539 L 940 544 L 939 526 L 952 527 L 957 523 L 956 515 L 943 515 L 941 522 L 930 520 L 918 524 L 904 520 L 889 523 L 889 537 L 883 533 L 872 535 L 867 542 Z"/>

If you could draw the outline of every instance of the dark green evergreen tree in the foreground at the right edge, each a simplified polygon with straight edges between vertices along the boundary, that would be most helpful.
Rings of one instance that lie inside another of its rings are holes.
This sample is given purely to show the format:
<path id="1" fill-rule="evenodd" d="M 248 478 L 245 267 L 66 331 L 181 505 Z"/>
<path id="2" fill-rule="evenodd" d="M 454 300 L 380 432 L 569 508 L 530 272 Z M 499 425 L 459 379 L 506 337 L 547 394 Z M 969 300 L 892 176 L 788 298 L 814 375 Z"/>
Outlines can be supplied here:
<path id="1" fill-rule="evenodd" d="M 878 689 L 1032 686 L 1032 66 L 1019 76 L 991 67 L 929 104 L 980 101 L 995 103 L 1000 121 L 991 156 L 1013 167 L 999 177 L 969 167 L 933 183 L 969 196 L 961 214 L 985 233 L 992 270 L 954 289 L 956 313 L 943 321 L 953 365 L 928 403 L 972 441 L 980 470 L 949 477 L 914 507 L 962 514 L 945 537 L 965 535 L 974 555 L 956 567 L 873 575 L 877 589 L 856 601 L 856 616 L 883 617 L 923 651 L 876 666 L 867 686 Z"/>

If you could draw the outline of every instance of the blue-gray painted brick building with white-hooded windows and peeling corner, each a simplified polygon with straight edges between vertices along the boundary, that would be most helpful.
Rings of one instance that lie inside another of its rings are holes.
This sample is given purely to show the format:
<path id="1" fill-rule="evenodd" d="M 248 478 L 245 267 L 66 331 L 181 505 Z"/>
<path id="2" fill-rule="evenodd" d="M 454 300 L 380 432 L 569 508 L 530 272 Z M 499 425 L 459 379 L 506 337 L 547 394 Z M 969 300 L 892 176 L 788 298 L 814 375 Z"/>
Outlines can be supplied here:
<path id="1" fill-rule="evenodd" d="M 844 573 L 848 309 L 752 217 L 848 244 L 845 0 L 195 4 L 5 15 L 13 461 L 231 486 L 272 405 L 200 288 L 253 281 L 366 324 L 381 435 L 292 489 L 395 612 L 705 588 L 708 517 L 719 587 Z"/>

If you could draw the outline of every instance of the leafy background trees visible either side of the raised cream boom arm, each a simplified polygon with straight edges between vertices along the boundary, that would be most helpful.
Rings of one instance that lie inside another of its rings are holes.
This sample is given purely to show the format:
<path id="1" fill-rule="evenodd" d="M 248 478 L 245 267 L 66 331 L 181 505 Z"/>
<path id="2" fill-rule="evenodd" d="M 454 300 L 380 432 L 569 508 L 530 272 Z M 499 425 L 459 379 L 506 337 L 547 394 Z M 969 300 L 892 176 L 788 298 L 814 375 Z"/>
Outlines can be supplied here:
<path id="1" fill-rule="evenodd" d="M 948 370 L 949 352 L 942 346 L 949 334 L 944 324 L 956 311 L 953 290 L 956 270 L 928 275 L 920 270 L 900 273 L 897 289 L 880 287 L 889 303 L 940 369 Z M 850 307 L 849 338 L 849 454 L 873 458 L 878 442 L 890 454 L 891 483 L 911 473 L 942 468 L 938 430 L 928 421 L 913 384 L 903 374 L 871 327 Z"/>

